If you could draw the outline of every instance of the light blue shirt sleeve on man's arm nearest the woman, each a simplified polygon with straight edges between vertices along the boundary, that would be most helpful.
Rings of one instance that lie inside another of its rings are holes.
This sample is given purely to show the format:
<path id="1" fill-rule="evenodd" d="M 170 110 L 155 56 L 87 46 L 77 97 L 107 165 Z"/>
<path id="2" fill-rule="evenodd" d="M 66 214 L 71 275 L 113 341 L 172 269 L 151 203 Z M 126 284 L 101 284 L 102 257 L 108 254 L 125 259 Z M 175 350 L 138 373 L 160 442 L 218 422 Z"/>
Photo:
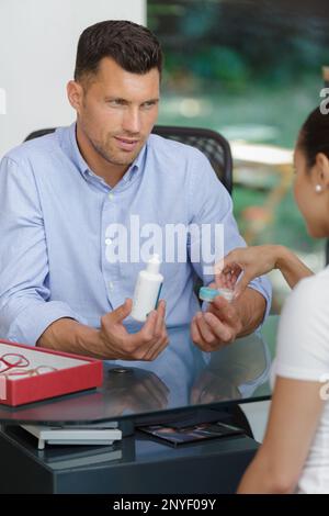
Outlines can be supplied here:
<path id="1" fill-rule="evenodd" d="M 191 168 L 189 256 L 196 274 L 204 284 L 208 284 L 214 281 L 214 265 L 236 247 L 246 247 L 246 242 L 232 214 L 231 198 L 218 181 L 207 158 L 195 152 Z M 270 281 L 261 276 L 251 281 L 249 287 L 265 299 L 268 315 L 272 301 Z"/>

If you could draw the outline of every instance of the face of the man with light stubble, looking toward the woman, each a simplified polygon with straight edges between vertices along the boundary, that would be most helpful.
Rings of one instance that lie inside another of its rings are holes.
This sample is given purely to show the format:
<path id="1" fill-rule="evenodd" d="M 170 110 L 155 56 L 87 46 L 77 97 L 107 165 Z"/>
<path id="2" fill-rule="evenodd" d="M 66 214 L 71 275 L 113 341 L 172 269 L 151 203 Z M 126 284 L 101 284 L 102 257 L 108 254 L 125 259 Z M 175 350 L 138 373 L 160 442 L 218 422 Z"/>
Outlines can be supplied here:
<path id="1" fill-rule="evenodd" d="M 80 88 L 76 106 L 78 124 L 93 150 L 112 165 L 128 167 L 156 122 L 159 90 L 157 68 L 132 74 L 104 57 L 90 83 Z"/>

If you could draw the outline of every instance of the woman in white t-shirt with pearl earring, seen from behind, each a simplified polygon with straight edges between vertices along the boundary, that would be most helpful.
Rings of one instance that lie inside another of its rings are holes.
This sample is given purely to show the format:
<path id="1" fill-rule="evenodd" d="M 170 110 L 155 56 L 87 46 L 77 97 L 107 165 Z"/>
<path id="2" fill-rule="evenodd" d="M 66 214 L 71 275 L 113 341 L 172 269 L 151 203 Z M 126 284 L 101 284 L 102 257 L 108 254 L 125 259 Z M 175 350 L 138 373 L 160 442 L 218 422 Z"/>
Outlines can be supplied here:
<path id="1" fill-rule="evenodd" d="M 319 109 L 300 130 L 294 161 L 294 194 L 308 233 L 327 237 L 329 116 Z M 313 274 L 283 246 L 239 248 L 225 258 L 217 282 L 239 296 L 250 279 L 275 268 L 293 292 L 280 319 L 264 441 L 238 492 L 329 493 L 329 267 Z"/>

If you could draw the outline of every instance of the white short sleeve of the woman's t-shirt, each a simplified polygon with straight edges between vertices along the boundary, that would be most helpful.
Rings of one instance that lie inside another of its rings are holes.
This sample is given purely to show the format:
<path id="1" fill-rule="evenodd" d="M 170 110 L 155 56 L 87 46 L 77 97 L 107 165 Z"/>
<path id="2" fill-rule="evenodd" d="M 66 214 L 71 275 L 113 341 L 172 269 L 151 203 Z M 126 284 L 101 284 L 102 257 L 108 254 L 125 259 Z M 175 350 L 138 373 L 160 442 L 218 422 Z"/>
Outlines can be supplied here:
<path id="1" fill-rule="evenodd" d="M 328 273 L 327 273 L 328 276 Z M 322 381 L 329 374 L 329 281 L 319 274 L 302 280 L 282 311 L 274 373 Z"/>

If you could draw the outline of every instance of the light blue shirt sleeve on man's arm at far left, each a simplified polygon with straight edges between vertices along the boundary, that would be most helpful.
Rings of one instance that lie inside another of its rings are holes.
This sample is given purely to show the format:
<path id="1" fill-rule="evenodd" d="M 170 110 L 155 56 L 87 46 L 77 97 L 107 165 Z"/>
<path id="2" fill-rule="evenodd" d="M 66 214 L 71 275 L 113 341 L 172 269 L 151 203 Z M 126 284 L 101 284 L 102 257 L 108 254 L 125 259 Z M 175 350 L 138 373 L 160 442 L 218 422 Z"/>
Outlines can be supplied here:
<path id="1" fill-rule="evenodd" d="M 49 301 L 47 243 L 29 162 L 0 164 L 0 337 L 35 345 L 61 317 L 83 323 L 65 302 Z"/>

